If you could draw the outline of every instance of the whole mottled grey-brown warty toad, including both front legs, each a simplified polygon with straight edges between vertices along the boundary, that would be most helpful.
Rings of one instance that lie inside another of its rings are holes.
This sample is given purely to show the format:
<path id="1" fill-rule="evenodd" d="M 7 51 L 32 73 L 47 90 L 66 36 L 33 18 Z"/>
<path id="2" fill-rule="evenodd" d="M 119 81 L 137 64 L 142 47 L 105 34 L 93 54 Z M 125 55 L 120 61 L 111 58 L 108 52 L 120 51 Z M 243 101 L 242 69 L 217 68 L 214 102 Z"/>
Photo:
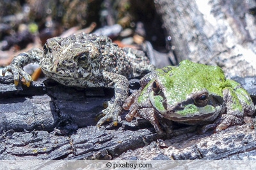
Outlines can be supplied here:
<path id="1" fill-rule="evenodd" d="M 143 76 L 154 70 L 145 54 L 131 48 L 118 48 L 111 39 L 95 34 L 73 34 L 67 38 L 51 38 L 44 45 L 44 50 L 34 48 L 14 57 L 11 64 L 3 69 L 3 75 L 9 71 L 18 85 L 22 76 L 27 86 L 31 76 L 22 67 L 31 62 L 38 62 L 44 74 L 53 80 L 74 87 L 109 87 L 114 88 L 115 97 L 105 115 L 97 125 L 109 118 L 117 124 L 122 104 L 128 96 L 127 78 Z"/>

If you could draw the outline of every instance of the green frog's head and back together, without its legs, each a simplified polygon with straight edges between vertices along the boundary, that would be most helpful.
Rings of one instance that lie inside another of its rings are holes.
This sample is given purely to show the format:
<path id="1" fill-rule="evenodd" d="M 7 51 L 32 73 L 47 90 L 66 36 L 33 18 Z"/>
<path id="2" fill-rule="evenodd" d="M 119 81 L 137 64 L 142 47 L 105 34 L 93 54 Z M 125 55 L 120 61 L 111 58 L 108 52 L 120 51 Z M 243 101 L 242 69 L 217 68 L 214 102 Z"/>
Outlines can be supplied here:
<path id="1" fill-rule="evenodd" d="M 156 71 L 146 89 L 147 98 L 161 117 L 183 124 L 207 124 L 221 113 L 225 86 L 220 67 L 186 60 L 168 73 Z"/>

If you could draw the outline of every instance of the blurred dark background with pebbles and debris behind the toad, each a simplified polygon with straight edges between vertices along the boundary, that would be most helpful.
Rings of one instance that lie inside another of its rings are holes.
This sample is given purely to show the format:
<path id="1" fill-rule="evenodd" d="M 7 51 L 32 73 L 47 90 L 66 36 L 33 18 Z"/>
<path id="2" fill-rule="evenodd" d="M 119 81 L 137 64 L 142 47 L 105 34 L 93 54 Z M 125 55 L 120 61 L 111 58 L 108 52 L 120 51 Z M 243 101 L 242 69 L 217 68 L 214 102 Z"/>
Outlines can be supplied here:
<path id="1" fill-rule="evenodd" d="M 153 0 L 4 0 L 0 3 L 0 67 L 20 52 L 42 48 L 48 38 L 76 32 L 103 34 L 121 47 L 150 45 L 167 53 L 162 25 Z"/>

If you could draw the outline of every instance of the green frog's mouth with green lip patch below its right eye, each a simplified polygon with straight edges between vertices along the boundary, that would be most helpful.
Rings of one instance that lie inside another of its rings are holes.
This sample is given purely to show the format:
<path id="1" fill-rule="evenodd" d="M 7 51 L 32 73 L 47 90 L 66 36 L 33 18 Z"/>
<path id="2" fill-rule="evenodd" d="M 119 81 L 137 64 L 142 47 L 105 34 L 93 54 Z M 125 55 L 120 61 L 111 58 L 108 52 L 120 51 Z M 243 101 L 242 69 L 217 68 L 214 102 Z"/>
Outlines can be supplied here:
<path id="1" fill-rule="evenodd" d="M 213 122 L 221 113 L 221 106 L 206 105 L 198 107 L 193 104 L 185 106 L 182 110 L 169 111 L 162 114 L 164 118 L 182 124 L 207 124 Z"/>

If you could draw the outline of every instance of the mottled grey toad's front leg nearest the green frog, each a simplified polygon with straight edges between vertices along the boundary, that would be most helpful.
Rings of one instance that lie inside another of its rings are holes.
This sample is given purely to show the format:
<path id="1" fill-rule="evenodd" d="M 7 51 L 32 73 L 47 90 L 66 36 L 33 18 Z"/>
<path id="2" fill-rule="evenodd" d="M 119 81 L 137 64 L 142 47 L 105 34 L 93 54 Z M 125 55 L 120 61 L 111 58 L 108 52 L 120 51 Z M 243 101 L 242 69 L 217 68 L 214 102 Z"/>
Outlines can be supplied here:
<path id="1" fill-rule="evenodd" d="M 109 73 L 107 71 L 103 72 L 103 76 L 105 80 L 111 82 L 108 87 L 114 87 L 115 96 L 109 102 L 108 108 L 100 112 L 104 115 L 104 117 L 100 118 L 97 125 L 102 125 L 110 118 L 113 119 L 113 125 L 117 125 L 118 115 L 122 112 L 122 105 L 124 104 L 125 99 L 128 97 L 129 81 L 127 78 L 125 78 L 125 76 Z"/>

